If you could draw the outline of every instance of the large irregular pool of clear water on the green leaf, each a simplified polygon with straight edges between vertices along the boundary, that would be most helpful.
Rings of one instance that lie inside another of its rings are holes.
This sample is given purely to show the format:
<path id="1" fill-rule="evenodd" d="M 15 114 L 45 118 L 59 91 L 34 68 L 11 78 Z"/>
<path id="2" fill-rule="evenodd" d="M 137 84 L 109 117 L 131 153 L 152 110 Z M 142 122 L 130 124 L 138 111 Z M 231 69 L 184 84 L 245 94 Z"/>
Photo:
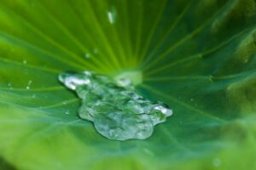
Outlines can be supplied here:
<path id="1" fill-rule="evenodd" d="M 65 72 L 59 80 L 82 100 L 79 117 L 93 122 L 96 131 L 108 139 L 147 139 L 155 125 L 172 116 L 167 105 L 137 94 L 129 80 L 115 82 L 90 71 Z"/>

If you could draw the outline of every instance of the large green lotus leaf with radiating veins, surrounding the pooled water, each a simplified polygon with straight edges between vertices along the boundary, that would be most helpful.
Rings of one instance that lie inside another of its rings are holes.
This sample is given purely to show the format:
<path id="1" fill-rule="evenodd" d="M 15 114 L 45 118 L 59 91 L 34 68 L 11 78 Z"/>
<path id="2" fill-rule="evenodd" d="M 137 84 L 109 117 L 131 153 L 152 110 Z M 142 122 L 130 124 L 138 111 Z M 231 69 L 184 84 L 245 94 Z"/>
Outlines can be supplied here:
<path id="1" fill-rule="evenodd" d="M 2 0 L 0 167 L 256 168 L 255 20 L 255 0 Z M 142 71 L 137 92 L 174 115 L 105 139 L 57 81 L 84 70 Z"/>

